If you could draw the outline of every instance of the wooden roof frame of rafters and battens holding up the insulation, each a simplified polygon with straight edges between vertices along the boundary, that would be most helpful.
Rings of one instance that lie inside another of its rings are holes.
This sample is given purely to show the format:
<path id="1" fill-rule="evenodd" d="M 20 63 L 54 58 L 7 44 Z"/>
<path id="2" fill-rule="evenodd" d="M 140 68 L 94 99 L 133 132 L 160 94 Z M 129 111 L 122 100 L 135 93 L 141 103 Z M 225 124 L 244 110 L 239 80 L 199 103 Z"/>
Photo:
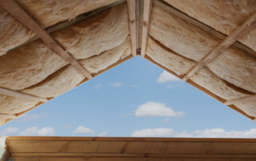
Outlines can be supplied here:
<path id="1" fill-rule="evenodd" d="M 243 112 L 241 109 L 237 108 L 234 104 L 236 103 L 244 103 L 248 101 L 256 100 L 256 95 L 252 96 L 243 96 L 241 98 L 236 98 L 232 100 L 225 100 L 219 96 L 216 96 L 213 92 L 210 92 L 206 88 L 201 87 L 200 85 L 196 84 L 194 81 L 190 80 L 190 77 L 194 75 L 194 73 L 197 73 L 199 69 L 202 69 L 205 65 L 210 63 L 210 61 L 213 61 L 214 58 L 218 57 L 218 55 L 222 54 L 229 46 L 234 45 L 238 49 L 242 49 L 246 51 L 247 53 L 250 53 L 253 56 L 256 56 L 253 49 L 250 49 L 246 45 L 242 45 L 237 40 L 239 37 L 242 37 L 246 33 L 250 31 L 250 29 L 253 29 L 256 26 L 255 20 L 256 20 L 256 13 L 250 16 L 244 22 L 241 26 L 238 27 L 238 29 L 235 29 L 233 33 L 226 36 L 223 33 L 220 33 L 216 31 L 215 29 L 211 28 L 210 26 L 206 26 L 204 23 L 199 22 L 198 20 L 191 18 L 189 15 L 182 13 L 180 10 L 176 10 L 173 6 L 170 6 L 168 3 L 162 1 L 162 0 L 122 0 L 118 2 L 114 2 L 113 4 L 110 4 L 109 6 L 103 6 L 97 10 L 94 10 L 90 13 L 87 13 L 85 17 L 82 17 L 82 15 L 78 16 L 71 22 L 61 22 L 57 25 L 50 26 L 47 29 L 43 29 L 38 22 L 34 20 L 29 14 L 26 13 L 25 10 L 22 9 L 21 6 L 18 6 L 18 4 L 14 0 L 0 0 L 0 6 L 2 6 L 5 10 L 7 10 L 10 14 L 14 16 L 18 21 L 22 22 L 27 28 L 34 31 L 34 33 L 37 34 L 37 36 L 32 37 L 29 41 L 22 45 L 26 45 L 27 43 L 31 41 L 35 41 L 38 38 L 41 38 L 44 44 L 51 50 L 54 51 L 54 53 L 58 54 L 60 57 L 62 57 L 65 61 L 67 61 L 70 65 L 73 65 L 75 69 L 78 70 L 79 73 L 82 73 L 86 78 L 80 83 L 84 83 L 93 77 L 96 77 L 98 74 L 103 73 L 107 71 L 108 69 L 113 68 L 116 65 L 119 65 L 123 61 L 129 60 L 131 57 L 126 57 L 125 59 L 118 61 L 114 63 L 114 65 L 110 65 L 107 69 L 102 70 L 100 73 L 89 73 L 87 69 L 82 67 L 78 60 L 74 59 L 70 55 L 70 53 L 67 53 L 66 50 L 58 44 L 57 41 L 54 40 L 53 37 L 50 36 L 50 33 L 57 31 L 59 29 L 62 29 L 66 26 L 73 25 L 76 22 L 82 21 L 86 18 L 90 18 L 91 16 L 98 14 L 106 9 L 109 9 L 112 6 L 116 6 L 122 2 L 126 2 L 128 6 L 128 15 L 129 15 L 129 29 L 130 29 L 130 44 L 131 44 L 131 51 L 132 56 L 135 57 L 137 55 L 140 55 L 141 57 L 144 57 L 146 60 L 151 61 L 155 65 L 158 65 L 162 69 L 165 69 L 167 72 L 174 74 L 174 76 L 182 79 L 183 81 L 186 81 L 187 83 L 193 85 L 195 88 L 200 89 L 202 92 L 205 92 L 206 94 L 212 96 L 214 99 L 222 102 L 223 104 L 226 104 L 230 108 L 233 108 L 235 111 L 242 113 L 242 115 L 250 118 L 250 120 L 256 120 L 254 116 L 249 116 L 245 112 Z M 222 42 L 216 46 L 210 53 L 206 55 L 201 61 L 198 62 L 197 65 L 195 65 L 186 75 L 178 75 L 177 73 L 174 73 L 174 71 L 171 71 L 170 69 L 166 69 L 164 66 L 159 65 L 156 61 L 152 60 L 150 57 L 146 55 L 146 47 L 147 47 L 147 41 L 150 30 L 150 18 L 151 18 L 151 10 L 152 6 L 160 6 L 164 10 L 169 11 L 172 14 L 175 14 L 179 18 L 182 18 L 183 20 L 190 22 L 194 24 L 195 26 L 198 26 L 201 29 L 204 29 L 208 33 L 213 34 L 214 36 L 222 39 Z M 83 14 L 84 15 L 84 14 Z M 15 48 L 21 47 L 22 45 L 19 45 Z M 14 49 L 15 49 L 14 48 Z M 12 49 L 10 49 L 12 50 Z M 79 84 L 78 84 L 79 85 Z M 14 91 L 8 88 L 0 88 L 0 94 L 5 94 L 7 96 L 17 96 L 22 97 L 26 99 L 31 100 L 38 100 L 40 101 L 34 108 L 36 108 L 38 105 L 43 104 L 44 102 L 51 100 L 52 98 L 42 98 L 38 96 L 29 95 L 26 93 L 23 93 L 21 91 Z M 33 108 L 30 108 L 29 110 L 26 110 L 26 112 L 30 111 Z M 9 118 L 7 121 L 12 120 L 16 118 L 17 116 L 22 115 L 24 112 L 15 114 L 15 115 L 8 115 L 6 113 L 0 113 L 0 117 L 6 117 Z M 6 122 L 7 122 L 6 121 Z"/>

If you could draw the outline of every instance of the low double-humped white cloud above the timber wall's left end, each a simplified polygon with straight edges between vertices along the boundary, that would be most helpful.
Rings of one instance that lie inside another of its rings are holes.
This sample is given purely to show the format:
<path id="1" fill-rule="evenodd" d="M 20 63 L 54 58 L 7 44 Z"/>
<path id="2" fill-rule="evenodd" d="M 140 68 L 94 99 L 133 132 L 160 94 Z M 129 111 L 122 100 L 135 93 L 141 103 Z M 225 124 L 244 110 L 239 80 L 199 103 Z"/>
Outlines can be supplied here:
<path id="1" fill-rule="evenodd" d="M 39 136 L 53 136 L 54 128 L 45 127 L 38 129 L 37 127 L 26 128 L 26 130 L 19 132 L 18 135 L 39 135 Z"/>

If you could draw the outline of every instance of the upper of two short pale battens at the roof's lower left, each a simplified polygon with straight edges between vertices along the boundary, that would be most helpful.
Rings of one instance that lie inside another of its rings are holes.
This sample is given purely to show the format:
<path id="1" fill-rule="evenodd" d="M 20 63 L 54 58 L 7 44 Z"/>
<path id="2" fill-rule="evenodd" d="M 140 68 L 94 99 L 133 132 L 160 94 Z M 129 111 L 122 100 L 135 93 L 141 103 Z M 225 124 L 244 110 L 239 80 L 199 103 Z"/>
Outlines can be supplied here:
<path id="1" fill-rule="evenodd" d="M 20 97 L 20 98 L 24 98 L 24 99 L 27 99 L 27 100 L 38 100 L 38 101 L 41 101 L 41 102 L 48 101 L 47 98 L 42 98 L 42 97 L 39 97 L 39 96 L 33 96 L 33 95 L 30 95 L 30 94 L 26 94 L 24 92 L 14 91 L 14 90 L 11 90 L 11 89 L 1 88 L 1 87 L 0 87 L 0 94 L 6 95 L 6 96 Z"/>

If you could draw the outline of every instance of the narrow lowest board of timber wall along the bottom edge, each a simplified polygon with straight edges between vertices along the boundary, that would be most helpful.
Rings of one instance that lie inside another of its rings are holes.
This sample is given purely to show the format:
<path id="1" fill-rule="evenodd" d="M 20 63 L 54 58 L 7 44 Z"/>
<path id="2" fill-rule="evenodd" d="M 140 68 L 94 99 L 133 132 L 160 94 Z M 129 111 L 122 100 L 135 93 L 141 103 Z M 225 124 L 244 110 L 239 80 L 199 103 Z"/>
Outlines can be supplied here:
<path id="1" fill-rule="evenodd" d="M 163 159 L 163 158 L 56 158 L 56 157 L 11 157 L 15 161 L 255 161 L 255 159 Z"/>

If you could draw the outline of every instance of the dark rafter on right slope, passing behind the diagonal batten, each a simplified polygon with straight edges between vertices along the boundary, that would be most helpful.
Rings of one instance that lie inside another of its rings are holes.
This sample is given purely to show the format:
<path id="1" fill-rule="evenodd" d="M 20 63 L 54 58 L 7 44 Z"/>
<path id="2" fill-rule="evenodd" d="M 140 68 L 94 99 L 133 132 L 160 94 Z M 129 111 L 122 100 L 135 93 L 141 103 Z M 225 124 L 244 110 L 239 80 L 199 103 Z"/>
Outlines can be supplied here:
<path id="1" fill-rule="evenodd" d="M 208 33 L 211 33 L 215 37 L 218 37 L 222 40 L 224 40 L 227 37 L 226 34 L 220 33 L 210 26 L 206 26 L 206 24 L 199 22 L 195 18 L 191 18 L 189 15 L 184 14 L 182 11 L 174 8 L 173 6 L 170 6 L 169 3 L 164 2 L 163 0 L 154 0 L 154 4 L 162 7 L 164 10 L 169 11 L 170 13 L 178 16 L 179 18 L 182 18 L 182 19 L 186 20 L 187 22 L 190 22 L 194 26 L 198 26 L 199 28 L 204 29 L 205 31 L 207 31 Z M 253 49 L 250 49 L 250 47 L 248 47 L 246 45 L 242 45 L 238 41 L 235 41 L 233 45 L 235 47 L 237 47 L 238 49 L 242 49 L 242 50 L 246 51 L 246 53 L 250 53 L 251 55 L 256 56 L 256 52 Z"/>

